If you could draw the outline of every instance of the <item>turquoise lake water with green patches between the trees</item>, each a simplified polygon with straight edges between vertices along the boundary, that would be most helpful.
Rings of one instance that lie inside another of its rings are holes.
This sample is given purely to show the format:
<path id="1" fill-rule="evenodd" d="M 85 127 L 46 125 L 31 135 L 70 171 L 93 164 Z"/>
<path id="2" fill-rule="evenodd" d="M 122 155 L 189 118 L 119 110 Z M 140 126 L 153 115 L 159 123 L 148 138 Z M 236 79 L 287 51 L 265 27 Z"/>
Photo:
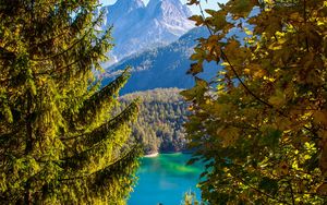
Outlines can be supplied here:
<path id="1" fill-rule="evenodd" d="M 203 166 L 186 166 L 189 154 L 160 154 L 143 158 L 137 171 L 140 177 L 129 205 L 180 205 L 185 192 L 192 190 L 197 198 L 196 188 Z"/>

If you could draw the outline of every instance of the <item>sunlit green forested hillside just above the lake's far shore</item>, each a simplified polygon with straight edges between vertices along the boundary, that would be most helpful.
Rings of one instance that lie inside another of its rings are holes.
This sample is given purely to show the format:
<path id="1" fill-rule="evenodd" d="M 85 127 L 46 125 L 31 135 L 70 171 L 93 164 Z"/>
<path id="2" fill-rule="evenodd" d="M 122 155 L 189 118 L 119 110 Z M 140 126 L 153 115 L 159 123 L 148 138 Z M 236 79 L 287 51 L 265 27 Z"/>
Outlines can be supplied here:
<path id="1" fill-rule="evenodd" d="M 141 99 L 133 136 L 144 144 L 145 153 L 180 152 L 185 148 L 183 123 L 187 109 L 178 88 L 157 88 L 121 97 L 123 105 Z"/>

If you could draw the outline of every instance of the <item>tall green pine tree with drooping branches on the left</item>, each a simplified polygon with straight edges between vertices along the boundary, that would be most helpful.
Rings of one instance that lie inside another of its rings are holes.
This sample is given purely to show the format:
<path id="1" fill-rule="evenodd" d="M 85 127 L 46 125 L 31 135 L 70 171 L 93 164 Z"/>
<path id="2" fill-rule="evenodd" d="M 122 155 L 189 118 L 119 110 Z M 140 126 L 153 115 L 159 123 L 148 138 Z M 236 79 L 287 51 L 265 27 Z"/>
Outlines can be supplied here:
<path id="1" fill-rule="evenodd" d="M 112 47 L 97 0 L 0 2 L 0 203 L 124 204 L 140 148 L 137 102 L 111 116 L 123 72 L 100 89 Z"/>

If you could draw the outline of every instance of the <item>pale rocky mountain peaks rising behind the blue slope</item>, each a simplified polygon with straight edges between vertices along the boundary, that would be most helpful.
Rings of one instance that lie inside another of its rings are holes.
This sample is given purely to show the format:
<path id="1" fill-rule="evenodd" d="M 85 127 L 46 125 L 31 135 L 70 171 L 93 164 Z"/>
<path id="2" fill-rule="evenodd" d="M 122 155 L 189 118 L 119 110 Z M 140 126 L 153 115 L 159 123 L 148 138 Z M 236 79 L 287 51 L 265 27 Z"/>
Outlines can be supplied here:
<path id="1" fill-rule="evenodd" d="M 111 56 L 120 60 L 132 53 L 168 45 L 194 27 L 192 15 L 180 0 L 118 0 L 104 7 L 106 19 L 102 29 L 113 25 Z"/>

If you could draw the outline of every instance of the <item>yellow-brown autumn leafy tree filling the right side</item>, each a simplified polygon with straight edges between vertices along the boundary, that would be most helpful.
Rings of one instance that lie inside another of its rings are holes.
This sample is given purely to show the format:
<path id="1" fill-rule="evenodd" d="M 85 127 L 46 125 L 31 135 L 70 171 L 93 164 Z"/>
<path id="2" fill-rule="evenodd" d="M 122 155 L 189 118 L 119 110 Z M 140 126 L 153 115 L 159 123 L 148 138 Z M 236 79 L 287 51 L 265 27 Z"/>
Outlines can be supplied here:
<path id="1" fill-rule="evenodd" d="M 198 39 L 191 57 L 196 85 L 182 92 L 193 106 L 185 125 L 190 146 L 207 161 L 203 200 L 325 204 L 326 1 L 231 0 L 219 7 L 191 17 L 210 36 Z M 225 69 L 206 82 L 196 77 L 204 61 Z"/>

